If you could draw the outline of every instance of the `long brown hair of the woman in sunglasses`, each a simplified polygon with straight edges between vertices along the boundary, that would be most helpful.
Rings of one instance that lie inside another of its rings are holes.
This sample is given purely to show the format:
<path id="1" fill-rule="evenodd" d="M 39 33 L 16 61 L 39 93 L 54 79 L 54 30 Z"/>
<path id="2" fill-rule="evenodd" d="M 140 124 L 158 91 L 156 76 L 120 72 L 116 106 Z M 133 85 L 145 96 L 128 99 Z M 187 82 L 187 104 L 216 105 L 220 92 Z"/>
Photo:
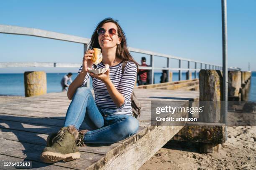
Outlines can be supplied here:
<path id="1" fill-rule="evenodd" d="M 103 24 L 105 23 L 114 23 L 117 28 L 118 28 L 118 37 L 121 37 L 121 43 L 117 45 L 116 48 L 116 56 L 118 58 L 120 58 L 121 60 L 124 61 L 132 61 L 136 64 L 137 66 L 137 72 L 138 72 L 138 63 L 133 59 L 133 56 L 130 54 L 129 50 L 128 50 L 128 46 L 127 46 L 127 42 L 126 42 L 126 36 L 125 33 L 123 32 L 123 29 L 120 27 L 118 20 L 113 20 L 113 18 L 105 18 L 104 20 L 102 20 L 100 23 L 98 23 L 97 27 L 95 28 L 92 37 L 91 37 L 91 41 L 90 41 L 90 45 L 89 45 L 89 49 L 93 49 L 93 48 L 100 48 L 100 44 L 99 44 L 99 40 L 98 40 L 98 33 L 97 30 L 99 28 L 102 27 Z"/>

